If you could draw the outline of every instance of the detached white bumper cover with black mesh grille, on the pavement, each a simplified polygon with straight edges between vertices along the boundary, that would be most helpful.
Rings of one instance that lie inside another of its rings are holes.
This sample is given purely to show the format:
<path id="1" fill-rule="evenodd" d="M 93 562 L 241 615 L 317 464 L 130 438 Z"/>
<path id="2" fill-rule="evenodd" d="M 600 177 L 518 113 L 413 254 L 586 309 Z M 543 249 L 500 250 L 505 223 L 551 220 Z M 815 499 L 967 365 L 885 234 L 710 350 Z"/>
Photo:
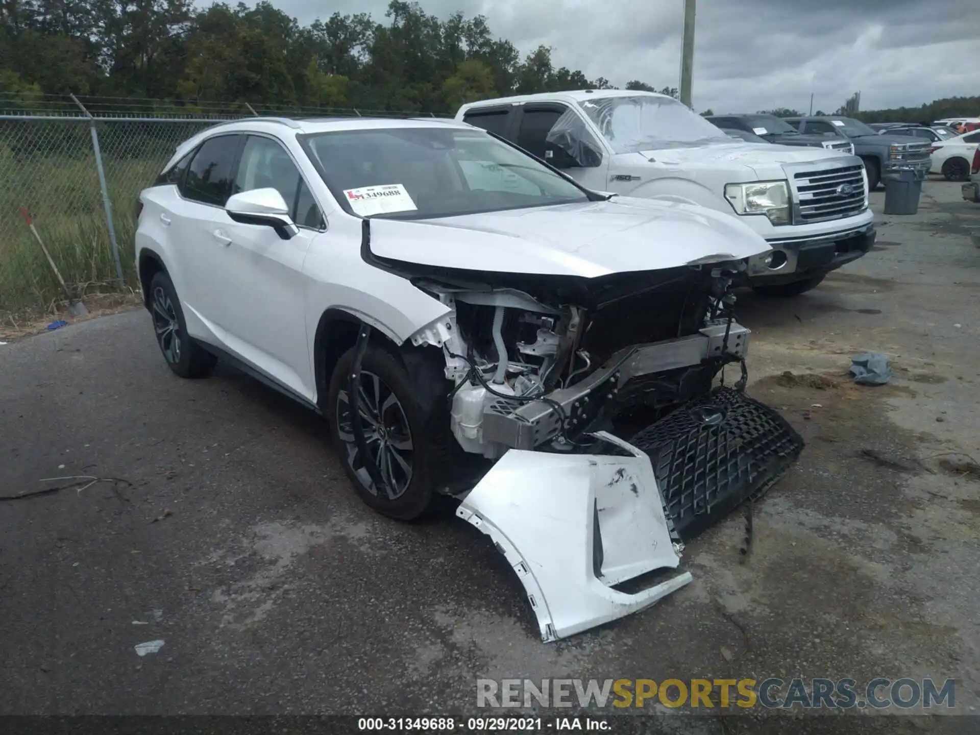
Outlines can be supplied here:
<path id="1" fill-rule="evenodd" d="M 690 582 L 689 572 L 663 578 L 680 563 L 679 541 L 760 497 L 804 446 L 779 414 L 731 388 L 671 412 L 632 443 L 594 436 L 622 456 L 512 449 L 457 510 L 514 568 L 546 643 Z M 617 589 L 651 576 L 657 583 L 639 592 Z"/>

